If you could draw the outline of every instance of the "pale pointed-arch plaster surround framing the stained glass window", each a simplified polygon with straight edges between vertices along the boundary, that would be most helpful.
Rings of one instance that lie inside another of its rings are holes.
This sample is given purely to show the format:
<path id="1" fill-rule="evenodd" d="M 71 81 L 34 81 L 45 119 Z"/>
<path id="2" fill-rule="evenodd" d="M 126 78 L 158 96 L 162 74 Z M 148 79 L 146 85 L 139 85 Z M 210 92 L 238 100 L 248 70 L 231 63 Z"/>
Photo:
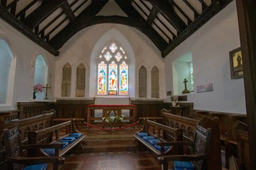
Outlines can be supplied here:
<path id="1" fill-rule="evenodd" d="M 119 46 L 122 46 L 125 49 L 125 53 L 127 56 L 127 63 L 129 63 L 129 92 L 127 96 L 135 97 L 135 58 L 133 48 L 129 41 L 127 41 L 126 37 L 122 35 L 120 31 L 116 28 L 111 28 L 108 32 L 100 37 L 100 39 L 96 42 L 92 50 L 92 56 L 90 59 L 90 90 L 89 96 L 93 97 L 97 95 L 97 73 L 95 68 L 98 65 L 98 57 L 99 52 L 104 49 L 106 45 L 111 44 L 111 42 L 117 42 Z"/>

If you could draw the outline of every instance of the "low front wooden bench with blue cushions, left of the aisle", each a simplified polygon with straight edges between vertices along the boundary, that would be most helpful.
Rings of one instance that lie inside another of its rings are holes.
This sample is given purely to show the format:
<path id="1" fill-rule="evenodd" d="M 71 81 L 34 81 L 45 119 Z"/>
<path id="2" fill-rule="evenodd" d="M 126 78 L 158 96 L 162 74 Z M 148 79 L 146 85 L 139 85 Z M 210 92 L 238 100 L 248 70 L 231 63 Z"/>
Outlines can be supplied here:
<path id="1" fill-rule="evenodd" d="M 28 134 L 28 143 L 29 144 L 45 144 L 45 143 L 53 144 L 57 141 L 61 141 L 61 139 L 63 139 L 64 137 L 68 137 L 72 133 L 79 133 L 79 131 L 77 131 L 75 126 L 75 120 L 69 120 L 43 130 L 31 131 Z M 81 141 L 85 137 L 86 135 L 82 134 L 80 138 L 75 139 L 74 142 L 69 143 L 63 149 L 55 151 L 55 156 L 65 155 L 69 150 L 71 150 L 73 147 L 77 146 L 78 144 L 81 146 Z M 81 150 L 82 150 L 82 147 L 81 147 Z M 42 150 L 36 150 L 36 154 L 49 156 Z"/>

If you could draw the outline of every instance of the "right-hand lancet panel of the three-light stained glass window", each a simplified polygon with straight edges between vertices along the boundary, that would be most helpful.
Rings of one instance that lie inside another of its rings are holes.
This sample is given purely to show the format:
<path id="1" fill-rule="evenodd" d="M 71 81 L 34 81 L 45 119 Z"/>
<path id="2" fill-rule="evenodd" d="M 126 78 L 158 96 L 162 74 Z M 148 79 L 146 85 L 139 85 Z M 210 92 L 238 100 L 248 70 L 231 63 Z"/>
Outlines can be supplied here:
<path id="1" fill-rule="evenodd" d="M 120 76 L 119 76 L 119 94 L 127 95 L 128 92 L 128 65 L 125 61 L 120 65 Z"/>

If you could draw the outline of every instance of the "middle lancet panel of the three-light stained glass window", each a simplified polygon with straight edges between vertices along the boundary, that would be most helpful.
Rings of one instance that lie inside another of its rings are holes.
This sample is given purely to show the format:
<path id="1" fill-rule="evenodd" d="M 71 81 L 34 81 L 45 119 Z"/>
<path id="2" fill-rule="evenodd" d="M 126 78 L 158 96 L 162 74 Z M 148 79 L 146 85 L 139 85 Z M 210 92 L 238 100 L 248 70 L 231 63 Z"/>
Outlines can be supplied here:
<path id="1" fill-rule="evenodd" d="M 117 95 L 117 64 L 114 61 L 109 65 L 109 94 Z"/>

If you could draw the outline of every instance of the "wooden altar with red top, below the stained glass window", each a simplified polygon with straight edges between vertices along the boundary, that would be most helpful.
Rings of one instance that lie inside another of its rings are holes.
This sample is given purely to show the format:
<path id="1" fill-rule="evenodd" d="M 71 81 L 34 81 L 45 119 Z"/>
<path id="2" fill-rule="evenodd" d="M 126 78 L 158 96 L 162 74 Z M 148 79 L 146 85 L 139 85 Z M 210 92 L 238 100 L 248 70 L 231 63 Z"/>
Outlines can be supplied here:
<path id="1" fill-rule="evenodd" d="M 109 124 L 102 121 L 102 117 L 122 116 L 123 120 L 118 122 L 117 127 L 126 127 L 136 122 L 136 105 L 102 105 L 89 104 L 87 112 L 87 124 L 108 127 Z"/>

